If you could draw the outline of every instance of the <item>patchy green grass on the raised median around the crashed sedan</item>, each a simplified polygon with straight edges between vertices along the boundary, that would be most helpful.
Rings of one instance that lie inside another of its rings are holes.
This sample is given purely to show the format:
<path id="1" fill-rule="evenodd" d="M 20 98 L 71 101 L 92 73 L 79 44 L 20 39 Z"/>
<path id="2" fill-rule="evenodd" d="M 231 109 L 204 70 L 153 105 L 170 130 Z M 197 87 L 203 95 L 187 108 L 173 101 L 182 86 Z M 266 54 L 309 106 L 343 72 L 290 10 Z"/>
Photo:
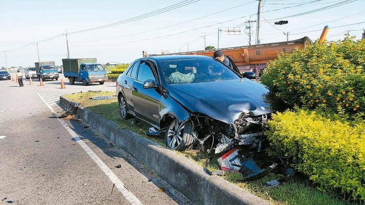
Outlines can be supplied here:
<path id="1" fill-rule="evenodd" d="M 114 96 L 111 100 L 92 100 L 92 98 L 99 96 Z M 117 97 L 114 92 L 83 92 L 65 95 L 66 98 L 73 102 L 81 103 L 81 106 L 90 109 L 91 111 L 98 113 L 102 117 L 118 123 L 120 128 L 129 129 L 133 132 L 139 133 L 142 137 L 147 138 L 155 143 L 164 145 L 163 137 L 150 137 L 145 133 L 148 131 L 149 126 L 142 122 L 136 122 L 135 119 L 122 120 L 119 113 L 119 105 Z M 217 159 L 220 155 L 211 155 L 204 152 L 198 152 L 197 149 L 175 153 L 191 160 L 192 162 L 207 167 L 211 171 L 218 169 Z M 283 176 L 280 174 L 270 173 L 262 179 L 241 182 L 242 175 L 240 173 L 229 173 L 223 177 L 227 181 L 236 184 L 246 191 L 251 192 L 254 195 L 261 197 L 273 205 L 348 205 L 345 201 L 339 200 L 336 196 L 330 193 L 324 193 L 308 181 L 304 179 L 291 178 L 287 182 L 276 186 L 267 187 L 265 182 L 280 179 Z"/>

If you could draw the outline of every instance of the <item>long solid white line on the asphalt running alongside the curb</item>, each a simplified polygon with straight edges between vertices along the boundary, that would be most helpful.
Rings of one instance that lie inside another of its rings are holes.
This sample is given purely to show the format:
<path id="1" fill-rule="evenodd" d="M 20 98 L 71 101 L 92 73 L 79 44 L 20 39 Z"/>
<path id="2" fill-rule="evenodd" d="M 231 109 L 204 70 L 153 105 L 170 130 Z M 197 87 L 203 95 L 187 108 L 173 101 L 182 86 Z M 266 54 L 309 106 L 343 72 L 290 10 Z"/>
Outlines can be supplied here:
<path id="1" fill-rule="evenodd" d="M 52 111 L 52 113 L 56 113 L 53 108 L 42 98 L 40 93 L 37 93 L 41 100 L 45 105 Z M 80 137 L 60 118 L 57 118 L 63 127 L 70 133 L 70 135 L 74 138 L 76 142 L 80 144 L 80 146 L 86 151 L 86 153 L 94 160 L 96 164 L 99 165 L 101 170 L 109 177 L 110 181 L 122 192 L 123 196 L 132 204 L 132 205 L 142 205 L 141 201 L 137 199 L 137 197 L 130 192 L 122 183 L 122 181 L 113 173 L 112 170 L 109 169 L 107 165 L 88 147 Z"/>

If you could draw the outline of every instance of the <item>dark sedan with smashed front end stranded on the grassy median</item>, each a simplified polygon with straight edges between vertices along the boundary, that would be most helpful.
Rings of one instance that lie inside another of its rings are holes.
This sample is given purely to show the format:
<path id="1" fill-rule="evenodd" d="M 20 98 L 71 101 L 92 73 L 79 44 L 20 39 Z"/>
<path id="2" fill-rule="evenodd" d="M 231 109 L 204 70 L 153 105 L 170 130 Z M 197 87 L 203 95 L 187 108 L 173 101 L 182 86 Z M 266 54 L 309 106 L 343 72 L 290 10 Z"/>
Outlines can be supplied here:
<path id="1" fill-rule="evenodd" d="M 233 147 L 261 148 L 264 125 L 272 112 L 268 89 L 222 62 L 206 56 L 140 58 L 117 80 L 122 119 L 135 117 L 164 133 L 176 150 L 194 143 L 209 152 Z"/>

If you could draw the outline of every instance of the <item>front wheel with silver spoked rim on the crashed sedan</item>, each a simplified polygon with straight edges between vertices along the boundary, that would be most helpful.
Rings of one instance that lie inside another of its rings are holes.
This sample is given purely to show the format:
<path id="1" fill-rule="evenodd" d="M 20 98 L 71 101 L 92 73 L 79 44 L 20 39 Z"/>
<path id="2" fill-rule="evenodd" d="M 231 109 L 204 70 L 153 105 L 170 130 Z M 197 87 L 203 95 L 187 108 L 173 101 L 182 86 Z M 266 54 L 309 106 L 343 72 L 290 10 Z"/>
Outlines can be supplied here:
<path id="1" fill-rule="evenodd" d="M 191 121 L 184 123 L 173 119 L 165 132 L 165 144 L 171 149 L 178 151 L 188 150 L 195 142 L 193 133 L 194 126 Z"/>

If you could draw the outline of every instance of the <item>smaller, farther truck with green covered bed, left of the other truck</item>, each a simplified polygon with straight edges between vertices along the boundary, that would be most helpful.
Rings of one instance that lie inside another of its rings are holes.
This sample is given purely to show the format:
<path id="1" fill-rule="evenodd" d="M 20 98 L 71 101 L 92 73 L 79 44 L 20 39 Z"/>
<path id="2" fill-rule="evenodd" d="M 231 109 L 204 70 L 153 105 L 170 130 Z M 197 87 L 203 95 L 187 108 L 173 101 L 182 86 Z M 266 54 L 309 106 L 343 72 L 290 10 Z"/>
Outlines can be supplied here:
<path id="1" fill-rule="evenodd" d="M 42 81 L 45 81 L 46 79 L 55 79 L 58 81 L 60 76 L 54 61 L 35 62 L 34 65 L 36 67 L 37 78 L 39 81 L 41 81 L 41 79 Z"/>

